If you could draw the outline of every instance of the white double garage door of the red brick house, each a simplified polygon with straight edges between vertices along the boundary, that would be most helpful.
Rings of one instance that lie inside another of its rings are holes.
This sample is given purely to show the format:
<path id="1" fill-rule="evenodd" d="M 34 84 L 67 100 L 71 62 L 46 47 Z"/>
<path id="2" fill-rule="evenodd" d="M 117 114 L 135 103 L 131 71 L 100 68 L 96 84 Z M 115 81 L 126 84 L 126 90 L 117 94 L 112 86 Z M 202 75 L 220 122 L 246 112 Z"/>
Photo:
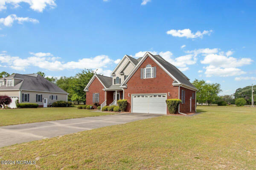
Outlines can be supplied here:
<path id="1" fill-rule="evenodd" d="M 166 114 L 166 94 L 133 94 L 133 113 L 157 113 Z"/>

